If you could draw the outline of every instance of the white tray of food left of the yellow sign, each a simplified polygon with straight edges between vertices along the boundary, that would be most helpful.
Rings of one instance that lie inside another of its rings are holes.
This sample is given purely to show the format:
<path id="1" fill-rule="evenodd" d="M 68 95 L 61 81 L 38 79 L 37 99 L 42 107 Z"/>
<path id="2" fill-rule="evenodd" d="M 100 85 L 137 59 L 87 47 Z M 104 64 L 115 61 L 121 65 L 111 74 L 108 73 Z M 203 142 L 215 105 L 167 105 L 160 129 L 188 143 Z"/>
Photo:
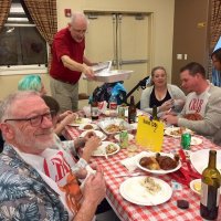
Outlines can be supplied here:
<path id="1" fill-rule="evenodd" d="M 97 124 L 107 135 L 118 134 L 123 130 L 131 130 L 131 126 L 120 118 L 105 118 Z"/>

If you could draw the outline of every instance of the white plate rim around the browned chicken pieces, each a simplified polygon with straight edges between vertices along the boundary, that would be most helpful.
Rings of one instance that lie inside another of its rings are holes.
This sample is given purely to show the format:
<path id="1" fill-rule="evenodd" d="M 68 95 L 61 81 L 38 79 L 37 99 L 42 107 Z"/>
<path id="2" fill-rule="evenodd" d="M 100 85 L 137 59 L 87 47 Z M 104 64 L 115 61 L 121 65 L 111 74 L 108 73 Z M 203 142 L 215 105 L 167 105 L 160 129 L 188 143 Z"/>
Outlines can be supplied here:
<path id="1" fill-rule="evenodd" d="M 139 160 L 143 158 L 143 157 L 152 157 L 155 156 L 156 152 L 146 152 L 145 155 L 140 156 L 138 159 L 137 159 L 137 167 L 139 167 L 140 169 L 147 171 L 147 172 L 151 172 L 151 173 L 156 173 L 156 175 L 166 175 L 166 173 L 170 173 L 170 172 L 173 172 L 173 171 L 177 171 L 180 167 L 181 167 L 181 161 L 179 160 L 179 164 L 177 165 L 177 167 L 175 169 L 169 169 L 169 170 L 164 170 L 164 169 L 158 169 L 158 170 L 154 170 L 154 169 L 147 169 L 145 167 L 143 167 L 140 164 L 139 164 Z M 173 155 L 172 154 L 166 154 L 166 152 L 160 152 L 161 156 L 168 156 L 168 157 L 171 157 L 173 158 Z"/>

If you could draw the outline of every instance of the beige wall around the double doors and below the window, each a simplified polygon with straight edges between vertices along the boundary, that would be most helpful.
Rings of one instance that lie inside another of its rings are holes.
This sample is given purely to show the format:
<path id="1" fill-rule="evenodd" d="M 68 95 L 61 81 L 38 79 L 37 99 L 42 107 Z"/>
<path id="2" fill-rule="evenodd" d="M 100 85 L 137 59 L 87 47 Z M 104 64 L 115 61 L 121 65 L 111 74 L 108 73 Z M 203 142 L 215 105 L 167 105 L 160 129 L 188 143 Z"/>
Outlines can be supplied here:
<path id="1" fill-rule="evenodd" d="M 175 0 L 57 0 L 59 29 L 66 27 L 69 22 L 69 18 L 64 17 L 64 9 L 72 9 L 72 11 L 101 10 L 154 12 L 154 34 L 151 43 L 152 63 L 150 66 L 164 65 L 168 73 L 171 73 Z M 48 74 L 42 74 L 41 76 L 48 92 L 50 92 Z M 10 92 L 17 90 L 18 81 L 21 77 L 22 75 L 0 76 L 0 99 Z M 81 83 L 80 92 L 85 92 L 84 83 Z"/>

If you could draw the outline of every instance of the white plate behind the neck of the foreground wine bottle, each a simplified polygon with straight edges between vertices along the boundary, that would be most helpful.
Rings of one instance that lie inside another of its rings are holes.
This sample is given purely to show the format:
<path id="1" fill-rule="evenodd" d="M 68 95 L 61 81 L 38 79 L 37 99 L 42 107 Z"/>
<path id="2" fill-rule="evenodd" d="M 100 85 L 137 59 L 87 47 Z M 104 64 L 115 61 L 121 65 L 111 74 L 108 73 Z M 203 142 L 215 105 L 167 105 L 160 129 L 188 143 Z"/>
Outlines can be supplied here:
<path id="1" fill-rule="evenodd" d="M 190 152 L 190 161 L 200 175 L 208 167 L 209 151 L 210 149 L 201 149 Z M 217 168 L 221 172 L 221 150 L 217 150 Z"/>

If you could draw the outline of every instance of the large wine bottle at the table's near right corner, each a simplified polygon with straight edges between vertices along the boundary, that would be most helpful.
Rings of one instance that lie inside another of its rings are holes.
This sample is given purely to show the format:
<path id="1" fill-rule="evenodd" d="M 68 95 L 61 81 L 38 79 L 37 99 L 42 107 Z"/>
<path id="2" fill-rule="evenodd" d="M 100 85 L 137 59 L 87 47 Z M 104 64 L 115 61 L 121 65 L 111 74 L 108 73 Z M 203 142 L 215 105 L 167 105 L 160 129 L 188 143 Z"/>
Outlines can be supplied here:
<path id="1" fill-rule="evenodd" d="M 215 162 L 217 151 L 210 150 L 208 167 L 202 172 L 200 200 L 200 214 L 207 220 L 215 220 L 219 211 L 221 175 Z"/>

